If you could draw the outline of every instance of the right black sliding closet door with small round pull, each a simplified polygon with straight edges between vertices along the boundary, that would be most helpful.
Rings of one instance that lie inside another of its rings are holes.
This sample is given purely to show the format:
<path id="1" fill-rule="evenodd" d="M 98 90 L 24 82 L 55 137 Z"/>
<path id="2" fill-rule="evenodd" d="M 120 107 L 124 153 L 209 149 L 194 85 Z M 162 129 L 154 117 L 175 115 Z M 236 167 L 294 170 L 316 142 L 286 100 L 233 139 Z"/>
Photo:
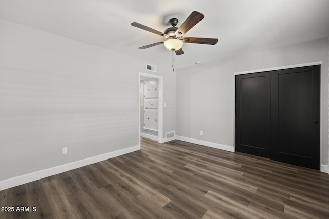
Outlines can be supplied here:
<path id="1" fill-rule="evenodd" d="M 320 65 L 271 73 L 271 158 L 320 169 Z"/>

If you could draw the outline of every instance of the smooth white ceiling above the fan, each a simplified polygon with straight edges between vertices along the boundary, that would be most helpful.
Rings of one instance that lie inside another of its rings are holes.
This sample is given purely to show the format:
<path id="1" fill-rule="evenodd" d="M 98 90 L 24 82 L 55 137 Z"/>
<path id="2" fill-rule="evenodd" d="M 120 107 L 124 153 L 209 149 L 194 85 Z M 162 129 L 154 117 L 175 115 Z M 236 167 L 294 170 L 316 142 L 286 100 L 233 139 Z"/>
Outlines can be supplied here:
<path id="1" fill-rule="evenodd" d="M 192 11 L 205 18 L 185 36 L 218 38 L 216 45 L 184 44 L 176 68 L 329 37 L 329 0 L 0 0 L 0 17 L 77 41 L 171 66 L 172 52 L 138 22 L 164 32 Z"/>

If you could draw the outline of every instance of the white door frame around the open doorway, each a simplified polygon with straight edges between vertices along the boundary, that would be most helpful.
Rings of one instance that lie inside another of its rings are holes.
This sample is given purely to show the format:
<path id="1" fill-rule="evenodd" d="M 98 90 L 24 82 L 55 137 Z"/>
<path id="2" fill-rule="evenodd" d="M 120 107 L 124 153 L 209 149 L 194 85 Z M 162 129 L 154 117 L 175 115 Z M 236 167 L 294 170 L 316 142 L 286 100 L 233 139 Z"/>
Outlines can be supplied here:
<path id="1" fill-rule="evenodd" d="M 159 114 L 158 114 L 158 121 L 159 121 L 159 127 L 158 127 L 158 142 L 163 143 L 163 77 L 154 75 L 154 74 L 148 74 L 143 72 L 138 72 L 138 144 L 140 146 L 140 80 L 142 77 L 148 77 L 152 79 L 157 79 L 159 82 Z"/>

